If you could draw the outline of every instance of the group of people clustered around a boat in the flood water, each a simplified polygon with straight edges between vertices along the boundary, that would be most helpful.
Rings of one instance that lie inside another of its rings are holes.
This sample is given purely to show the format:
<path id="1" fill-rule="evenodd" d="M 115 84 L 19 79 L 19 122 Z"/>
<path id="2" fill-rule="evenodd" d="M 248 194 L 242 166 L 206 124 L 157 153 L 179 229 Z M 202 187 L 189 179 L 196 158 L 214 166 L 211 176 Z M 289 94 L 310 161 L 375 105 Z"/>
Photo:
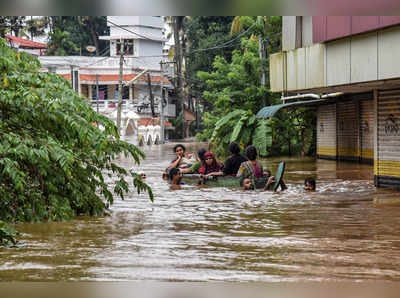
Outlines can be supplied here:
<path id="1" fill-rule="evenodd" d="M 204 148 L 197 151 L 196 158 L 193 154 L 186 154 L 184 145 L 175 145 L 176 158 L 166 169 L 164 177 L 171 181 L 172 188 L 176 188 L 174 186 L 181 183 L 182 174 L 200 174 L 199 184 L 202 184 L 209 176 L 236 176 L 243 189 L 263 188 L 268 190 L 275 182 L 271 171 L 264 170 L 262 164 L 257 160 L 256 147 L 252 145 L 246 147 L 244 155 L 240 154 L 240 147 L 236 142 L 230 143 L 228 149 L 231 156 L 223 164 L 216 160 L 212 152 Z M 315 180 L 307 179 L 308 184 L 314 185 L 310 190 L 315 190 Z M 262 183 L 261 187 L 256 185 L 257 181 Z M 280 181 L 280 187 L 281 190 L 287 188 L 283 180 Z M 308 188 L 306 189 L 308 190 Z"/>

